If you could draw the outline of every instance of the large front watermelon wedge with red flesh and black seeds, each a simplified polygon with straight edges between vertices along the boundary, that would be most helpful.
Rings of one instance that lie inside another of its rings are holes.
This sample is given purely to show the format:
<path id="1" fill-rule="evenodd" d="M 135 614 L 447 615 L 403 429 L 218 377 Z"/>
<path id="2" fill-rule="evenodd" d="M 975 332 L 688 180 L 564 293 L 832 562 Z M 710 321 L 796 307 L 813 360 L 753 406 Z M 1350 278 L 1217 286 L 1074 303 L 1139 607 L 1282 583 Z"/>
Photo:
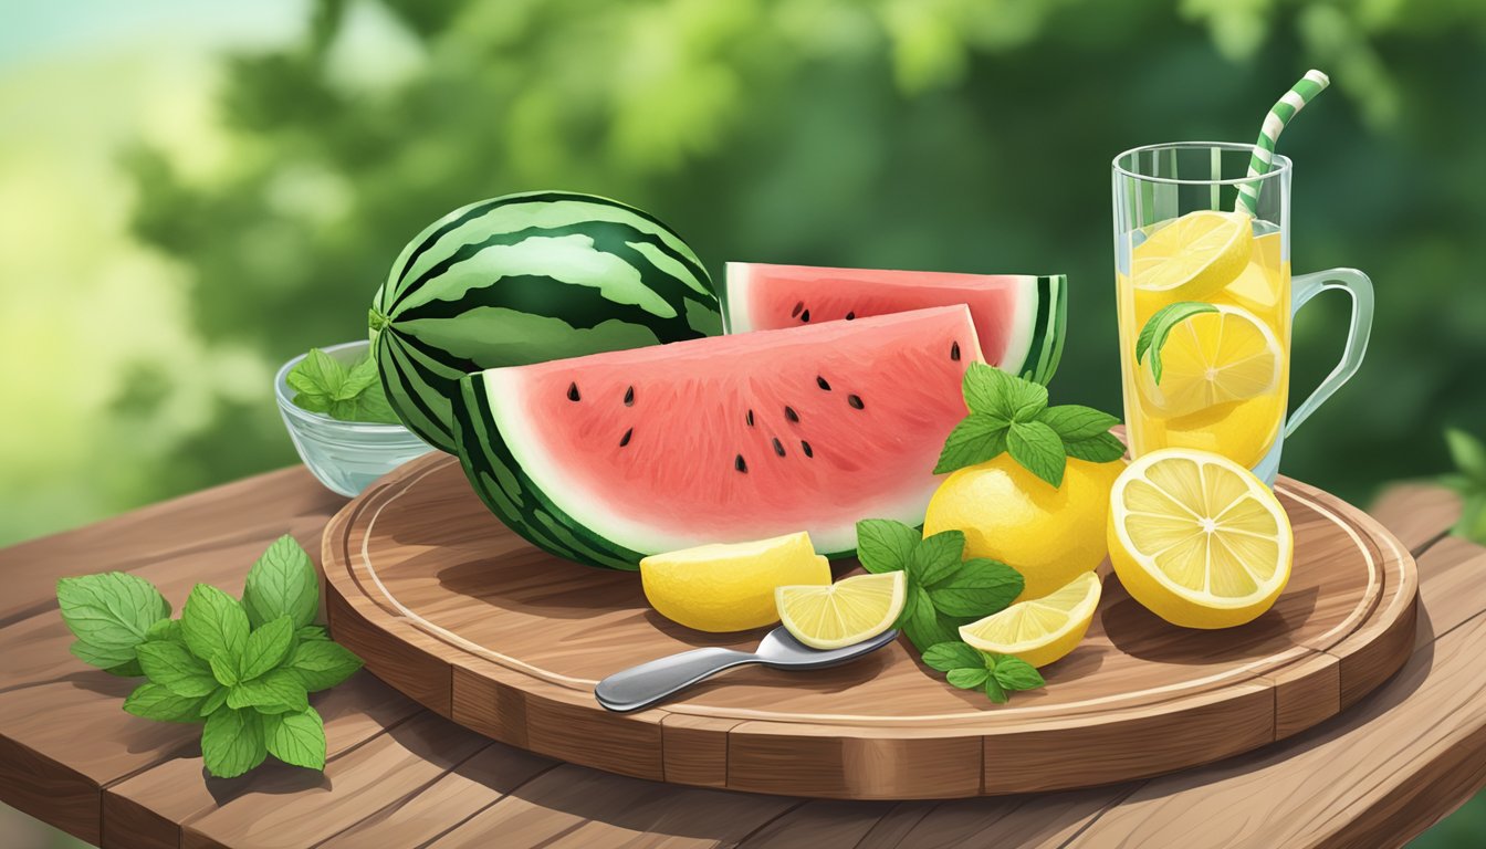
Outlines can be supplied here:
<path id="1" fill-rule="evenodd" d="M 490 510 L 563 558 L 795 531 L 846 556 L 857 519 L 923 522 L 972 361 L 955 305 L 487 369 L 455 442 Z"/>

